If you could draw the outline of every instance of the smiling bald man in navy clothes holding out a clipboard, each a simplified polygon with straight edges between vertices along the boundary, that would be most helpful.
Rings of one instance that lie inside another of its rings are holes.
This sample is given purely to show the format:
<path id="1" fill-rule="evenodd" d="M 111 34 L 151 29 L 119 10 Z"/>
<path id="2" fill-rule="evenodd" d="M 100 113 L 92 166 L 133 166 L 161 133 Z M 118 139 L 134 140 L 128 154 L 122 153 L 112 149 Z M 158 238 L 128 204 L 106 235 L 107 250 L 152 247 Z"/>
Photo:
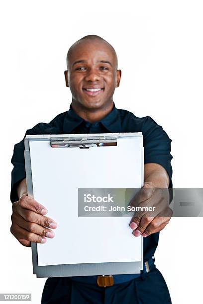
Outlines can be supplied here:
<path id="1" fill-rule="evenodd" d="M 138 118 L 126 110 L 116 109 L 113 93 L 119 86 L 121 71 L 117 70 L 117 56 L 113 47 L 96 35 L 85 36 L 74 43 L 67 54 L 66 86 L 70 87 L 70 110 L 57 115 L 49 124 L 39 123 L 26 134 L 83 134 L 142 132 L 144 137 L 144 187 L 132 204 L 150 199 L 155 206 L 167 201 L 157 189 L 172 187 L 171 140 L 149 116 Z M 46 206 L 27 196 L 24 143 L 14 146 L 11 194 L 13 213 L 11 232 L 24 246 L 30 242 L 44 243 L 54 237 L 57 223 L 46 217 Z M 147 191 L 143 191 L 143 190 Z M 149 191 L 148 191 L 149 190 Z M 168 190 L 167 190 L 168 191 Z M 156 194 L 156 195 L 155 195 Z M 114 284 L 97 284 L 97 276 L 49 278 L 42 303 L 171 303 L 166 283 L 154 265 L 153 255 L 159 233 L 171 218 L 168 204 L 162 216 L 148 214 L 133 216 L 130 227 L 135 237 L 144 237 L 145 267 L 141 275 L 115 275 Z M 103 285 L 104 286 L 104 285 Z"/>

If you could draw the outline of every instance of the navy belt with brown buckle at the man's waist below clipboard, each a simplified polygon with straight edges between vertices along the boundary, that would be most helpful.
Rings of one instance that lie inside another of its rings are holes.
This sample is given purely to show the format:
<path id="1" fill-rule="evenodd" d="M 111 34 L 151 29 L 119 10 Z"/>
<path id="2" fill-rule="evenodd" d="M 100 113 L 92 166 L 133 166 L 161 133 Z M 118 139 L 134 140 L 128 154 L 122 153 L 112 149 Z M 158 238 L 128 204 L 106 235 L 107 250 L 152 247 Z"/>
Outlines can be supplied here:
<path id="1" fill-rule="evenodd" d="M 83 276 L 83 277 L 71 277 L 71 281 L 86 283 L 86 284 L 97 284 L 100 287 L 110 287 L 116 284 L 125 283 L 131 281 L 135 278 L 142 276 L 150 272 L 154 266 L 154 256 L 151 257 L 148 261 L 144 262 L 143 270 L 141 273 L 135 274 L 124 274 L 124 275 L 105 275 L 105 276 Z"/>

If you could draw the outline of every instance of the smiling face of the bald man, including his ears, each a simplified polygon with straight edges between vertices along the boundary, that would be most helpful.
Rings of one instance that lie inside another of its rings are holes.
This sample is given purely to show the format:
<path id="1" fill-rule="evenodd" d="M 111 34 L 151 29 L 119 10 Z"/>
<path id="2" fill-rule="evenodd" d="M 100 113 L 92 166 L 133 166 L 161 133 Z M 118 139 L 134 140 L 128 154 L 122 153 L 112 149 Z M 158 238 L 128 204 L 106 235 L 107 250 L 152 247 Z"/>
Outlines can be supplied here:
<path id="1" fill-rule="evenodd" d="M 121 72 L 116 70 L 116 57 L 109 45 L 84 40 L 73 47 L 65 76 L 73 102 L 88 109 L 100 109 L 112 103 Z"/>

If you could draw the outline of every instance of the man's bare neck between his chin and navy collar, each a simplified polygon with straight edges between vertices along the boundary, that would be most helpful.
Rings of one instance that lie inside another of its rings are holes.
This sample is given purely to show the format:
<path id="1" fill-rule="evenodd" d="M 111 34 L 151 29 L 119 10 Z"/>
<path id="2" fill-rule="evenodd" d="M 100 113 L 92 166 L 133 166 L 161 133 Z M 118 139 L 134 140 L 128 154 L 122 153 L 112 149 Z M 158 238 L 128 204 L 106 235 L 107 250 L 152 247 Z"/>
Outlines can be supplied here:
<path id="1" fill-rule="evenodd" d="M 77 101 L 72 101 L 71 105 L 74 112 L 78 114 L 78 116 L 82 117 L 86 121 L 89 121 L 90 123 L 95 123 L 102 120 L 103 117 L 111 112 L 113 108 L 113 101 L 99 109 L 85 108 Z"/>

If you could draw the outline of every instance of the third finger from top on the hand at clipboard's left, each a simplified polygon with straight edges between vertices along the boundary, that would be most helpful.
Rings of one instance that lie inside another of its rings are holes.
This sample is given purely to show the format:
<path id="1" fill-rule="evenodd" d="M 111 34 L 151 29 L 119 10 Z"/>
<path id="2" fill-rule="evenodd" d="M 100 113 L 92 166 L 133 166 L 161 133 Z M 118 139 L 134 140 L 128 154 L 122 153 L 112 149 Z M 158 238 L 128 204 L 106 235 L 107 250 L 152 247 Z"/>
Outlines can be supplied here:
<path id="1" fill-rule="evenodd" d="M 35 234 L 50 237 L 50 238 L 53 238 L 55 236 L 54 231 L 52 231 L 51 229 L 42 227 L 42 226 L 40 226 L 38 224 L 35 224 L 35 223 L 27 222 L 20 215 L 15 215 L 14 214 L 12 216 L 12 221 L 13 221 L 13 223 L 18 225 L 19 227 L 24 228 L 29 232 L 33 232 Z"/>

